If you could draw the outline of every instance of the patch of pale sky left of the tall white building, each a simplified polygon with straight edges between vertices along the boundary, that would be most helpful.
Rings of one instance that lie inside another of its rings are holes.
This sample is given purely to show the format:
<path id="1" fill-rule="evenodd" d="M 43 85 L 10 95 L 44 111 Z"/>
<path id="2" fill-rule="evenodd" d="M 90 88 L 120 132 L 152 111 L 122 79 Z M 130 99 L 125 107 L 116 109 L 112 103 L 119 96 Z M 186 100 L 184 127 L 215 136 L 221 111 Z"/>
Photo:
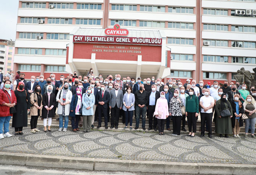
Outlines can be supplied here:
<path id="1" fill-rule="evenodd" d="M 0 39 L 16 38 L 19 0 L 0 0 Z"/>

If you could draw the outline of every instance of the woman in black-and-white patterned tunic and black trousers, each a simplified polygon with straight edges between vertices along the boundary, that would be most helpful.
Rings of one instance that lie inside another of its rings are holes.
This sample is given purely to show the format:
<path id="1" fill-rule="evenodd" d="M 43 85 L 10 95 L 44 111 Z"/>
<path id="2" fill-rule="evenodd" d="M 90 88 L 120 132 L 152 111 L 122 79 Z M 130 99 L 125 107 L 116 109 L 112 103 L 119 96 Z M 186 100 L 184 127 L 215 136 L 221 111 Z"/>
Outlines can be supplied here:
<path id="1" fill-rule="evenodd" d="M 180 127 L 181 127 L 181 107 L 184 106 L 181 97 L 179 97 L 178 89 L 174 90 L 173 98 L 170 100 L 169 104 L 169 114 L 173 118 L 173 133 L 172 135 L 177 136 L 180 135 Z"/>

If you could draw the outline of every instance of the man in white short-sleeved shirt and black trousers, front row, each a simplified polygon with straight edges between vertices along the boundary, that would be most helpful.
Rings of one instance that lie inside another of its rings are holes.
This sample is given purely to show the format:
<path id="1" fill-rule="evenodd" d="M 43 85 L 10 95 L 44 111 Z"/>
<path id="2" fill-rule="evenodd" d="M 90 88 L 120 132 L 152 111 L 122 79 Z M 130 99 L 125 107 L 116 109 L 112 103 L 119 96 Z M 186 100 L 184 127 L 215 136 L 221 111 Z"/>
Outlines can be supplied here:
<path id="1" fill-rule="evenodd" d="M 199 102 L 201 106 L 201 135 L 204 136 L 204 125 L 207 122 L 208 125 L 208 137 L 212 138 L 212 108 L 214 106 L 214 98 L 210 96 L 210 90 L 206 89 L 204 96 L 200 98 Z"/>

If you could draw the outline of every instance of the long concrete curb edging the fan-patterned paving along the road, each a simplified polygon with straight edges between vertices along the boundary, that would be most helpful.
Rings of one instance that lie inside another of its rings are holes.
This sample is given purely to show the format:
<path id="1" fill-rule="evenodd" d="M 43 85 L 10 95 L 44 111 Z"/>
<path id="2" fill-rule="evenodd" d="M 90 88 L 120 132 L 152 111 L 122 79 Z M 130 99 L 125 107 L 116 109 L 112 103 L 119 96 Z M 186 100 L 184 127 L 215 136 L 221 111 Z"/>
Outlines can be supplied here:
<path id="1" fill-rule="evenodd" d="M 34 155 L 0 152 L 0 164 L 71 168 L 95 171 L 157 172 L 177 174 L 253 175 L 256 165 L 221 163 L 184 163 L 99 158 L 74 158 L 67 156 Z"/>

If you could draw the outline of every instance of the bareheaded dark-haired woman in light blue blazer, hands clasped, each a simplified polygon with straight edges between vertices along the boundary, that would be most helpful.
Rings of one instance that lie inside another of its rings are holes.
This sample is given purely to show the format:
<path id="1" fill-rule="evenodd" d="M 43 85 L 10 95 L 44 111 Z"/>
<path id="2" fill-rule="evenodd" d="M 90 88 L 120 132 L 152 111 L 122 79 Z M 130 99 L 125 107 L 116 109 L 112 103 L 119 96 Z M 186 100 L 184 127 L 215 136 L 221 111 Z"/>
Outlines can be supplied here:
<path id="1" fill-rule="evenodd" d="M 123 97 L 123 110 L 125 114 L 125 127 L 124 129 L 127 128 L 128 125 L 128 120 L 130 123 L 130 129 L 132 129 L 132 116 L 133 116 L 133 111 L 135 110 L 134 104 L 135 104 L 135 96 L 132 93 L 132 87 L 128 86 L 126 88 L 126 93 L 124 94 Z"/>

